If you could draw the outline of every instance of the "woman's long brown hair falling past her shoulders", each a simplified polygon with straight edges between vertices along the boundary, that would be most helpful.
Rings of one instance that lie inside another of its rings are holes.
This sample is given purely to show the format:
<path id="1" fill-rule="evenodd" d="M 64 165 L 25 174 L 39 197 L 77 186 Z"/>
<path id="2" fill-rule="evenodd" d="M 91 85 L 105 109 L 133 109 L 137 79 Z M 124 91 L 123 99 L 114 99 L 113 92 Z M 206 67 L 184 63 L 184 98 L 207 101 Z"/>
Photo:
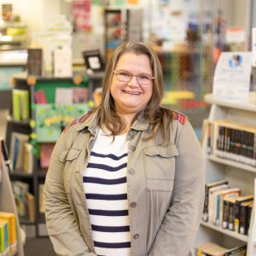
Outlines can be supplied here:
<path id="1" fill-rule="evenodd" d="M 110 93 L 110 85 L 113 79 L 113 70 L 116 67 L 119 58 L 125 53 L 134 53 L 136 55 L 147 55 L 149 58 L 150 66 L 152 69 L 153 80 L 153 92 L 152 97 L 148 102 L 148 105 L 141 111 L 143 112 L 144 119 L 146 119 L 150 125 L 150 131 L 145 140 L 155 137 L 160 131 L 163 136 L 163 143 L 166 142 L 166 128 L 170 124 L 172 119 L 172 111 L 167 108 L 162 108 L 160 102 L 164 93 L 163 73 L 158 56 L 154 50 L 148 45 L 140 42 L 125 42 L 120 44 L 117 49 L 114 50 L 113 55 L 108 61 L 108 65 L 105 70 L 105 75 L 102 84 L 102 103 L 99 106 L 100 119 L 99 124 L 101 127 L 106 127 L 111 135 L 119 135 L 125 130 L 125 120 L 119 117 L 115 111 L 113 97 Z M 137 113 L 138 115 L 139 113 Z M 132 123 L 137 119 L 137 115 L 132 120 Z"/>

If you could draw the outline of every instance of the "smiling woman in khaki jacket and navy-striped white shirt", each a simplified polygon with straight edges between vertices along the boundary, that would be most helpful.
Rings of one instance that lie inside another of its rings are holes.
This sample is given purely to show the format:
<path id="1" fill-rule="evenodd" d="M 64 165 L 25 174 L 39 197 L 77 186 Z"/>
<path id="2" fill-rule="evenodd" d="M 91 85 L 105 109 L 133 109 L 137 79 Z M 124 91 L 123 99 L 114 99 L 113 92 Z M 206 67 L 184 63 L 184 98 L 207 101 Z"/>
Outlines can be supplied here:
<path id="1" fill-rule="evenodd" d="M 189 121 L 160 106 L 154 51 L 120 45 L 102 102 L 55 145 L 44 194 L 58 255 L 185 256 L 204 199 L 201 149 Z"/>

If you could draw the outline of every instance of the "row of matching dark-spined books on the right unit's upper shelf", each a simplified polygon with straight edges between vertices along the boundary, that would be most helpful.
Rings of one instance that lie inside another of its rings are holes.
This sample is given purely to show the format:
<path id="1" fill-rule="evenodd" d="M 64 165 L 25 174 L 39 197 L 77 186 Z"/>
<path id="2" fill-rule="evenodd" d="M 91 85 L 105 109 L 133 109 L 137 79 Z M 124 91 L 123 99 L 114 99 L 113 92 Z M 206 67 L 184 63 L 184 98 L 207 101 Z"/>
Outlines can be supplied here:
<path id="1" fill-rule="evenodd" d="M 207 153 L 256 166 L 256 126 L 208 120 Z"/>

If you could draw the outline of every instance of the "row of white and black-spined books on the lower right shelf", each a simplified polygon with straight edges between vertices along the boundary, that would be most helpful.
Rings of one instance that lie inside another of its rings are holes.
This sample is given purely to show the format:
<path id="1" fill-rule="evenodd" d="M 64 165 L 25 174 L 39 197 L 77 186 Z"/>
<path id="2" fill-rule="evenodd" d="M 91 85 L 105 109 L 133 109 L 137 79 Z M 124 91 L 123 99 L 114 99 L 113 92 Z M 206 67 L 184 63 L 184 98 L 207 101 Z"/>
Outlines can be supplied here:
<path id="1" fill-rule="evenodd" d="M 207 183 L 203 220 L 223 229 L 247 235 L 253 208 L 253 195 L 241 195 L 227 180 Z"/>

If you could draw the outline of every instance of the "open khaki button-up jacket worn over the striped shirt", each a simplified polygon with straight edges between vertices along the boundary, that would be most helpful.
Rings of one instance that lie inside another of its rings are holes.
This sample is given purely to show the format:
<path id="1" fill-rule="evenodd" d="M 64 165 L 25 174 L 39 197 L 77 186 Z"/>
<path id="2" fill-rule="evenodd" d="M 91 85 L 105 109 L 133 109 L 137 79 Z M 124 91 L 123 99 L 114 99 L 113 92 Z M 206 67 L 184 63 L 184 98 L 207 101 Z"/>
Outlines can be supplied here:
<path id="1" fill-rule="evenodd" d="M 96 255 L 82 180 L 96 126 L 96 113 L 74 123 L 51 156 L 44 203 L 58 255 Z M 189 121 L 173 119 L 168 130 L 165 145 L 143 141 L 148 123 L 138 118 L 127 135 L 132 256 L 187 256 L 193 249 L 204 201 L 201 148 Z"/>

